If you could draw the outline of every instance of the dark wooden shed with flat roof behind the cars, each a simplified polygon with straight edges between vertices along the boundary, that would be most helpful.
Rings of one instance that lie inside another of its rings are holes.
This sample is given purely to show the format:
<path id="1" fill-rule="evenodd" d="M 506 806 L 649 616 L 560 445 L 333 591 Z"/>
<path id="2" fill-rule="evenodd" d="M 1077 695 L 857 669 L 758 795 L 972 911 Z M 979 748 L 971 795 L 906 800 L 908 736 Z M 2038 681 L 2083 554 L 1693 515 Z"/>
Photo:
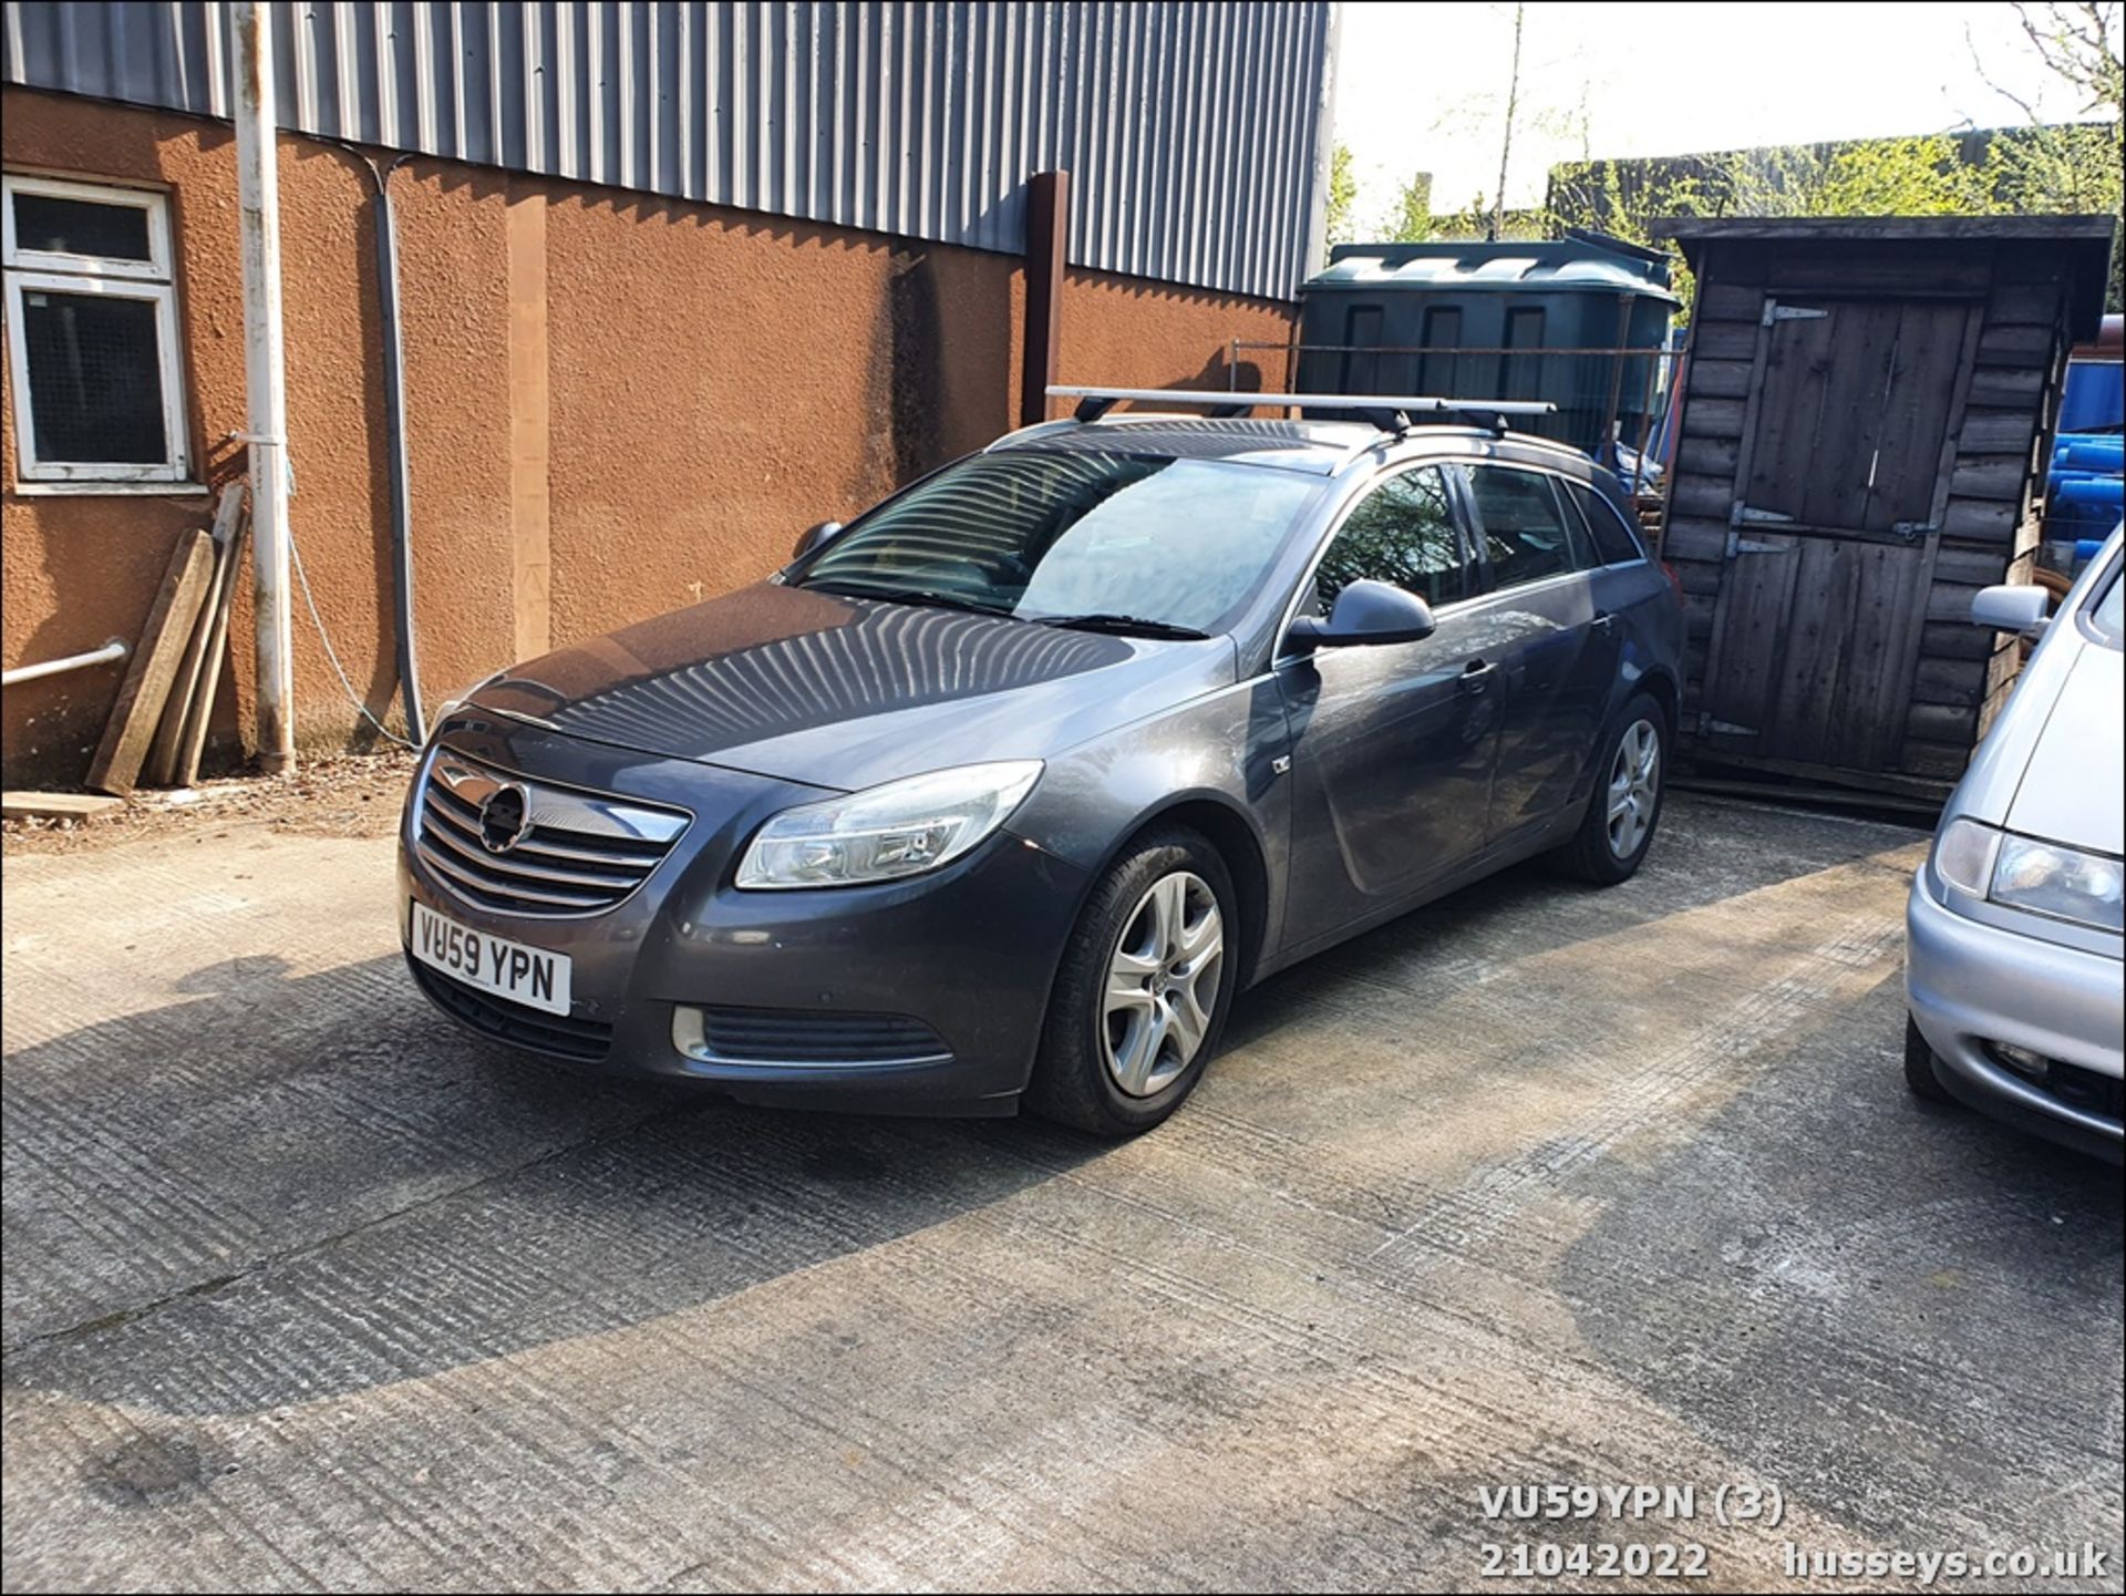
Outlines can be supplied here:
<path id="1" fill-rule="evenodd" d="M 1697 274 L 1663 559 L 1684 752 L 1943 795 L 2007 697 L 2020 580 L 2111 217 L 1673 221 Z"/>

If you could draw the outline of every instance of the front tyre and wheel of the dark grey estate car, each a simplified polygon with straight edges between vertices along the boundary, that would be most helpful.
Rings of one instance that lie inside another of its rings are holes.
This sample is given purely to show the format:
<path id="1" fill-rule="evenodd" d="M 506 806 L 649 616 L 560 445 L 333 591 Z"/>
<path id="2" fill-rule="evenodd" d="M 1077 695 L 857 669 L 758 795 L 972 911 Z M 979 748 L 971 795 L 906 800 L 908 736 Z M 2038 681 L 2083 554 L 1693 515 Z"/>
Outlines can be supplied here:
<path id="1" fill-rule="evenodd" d="M 1150 831 L 1078 916 L 1048 999 L 1027 1107 L 1133 1137 L 1182 1105 L 1218 1050 L 1239 984 L 1233 873 L 1195 831 Z"/>

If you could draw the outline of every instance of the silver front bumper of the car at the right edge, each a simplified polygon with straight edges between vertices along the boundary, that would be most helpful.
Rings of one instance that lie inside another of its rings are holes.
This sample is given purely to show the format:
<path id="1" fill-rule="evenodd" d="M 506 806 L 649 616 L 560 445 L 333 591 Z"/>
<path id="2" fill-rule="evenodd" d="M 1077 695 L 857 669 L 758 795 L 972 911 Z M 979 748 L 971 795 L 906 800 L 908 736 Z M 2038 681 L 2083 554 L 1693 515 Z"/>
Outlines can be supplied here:
<path id="1" fill-rule="evenodd" d="M 1926 871 L 1905 914 L 1905 999 L 1935 1050 L 1935 1075 L 1960 1101 L 2037 1135 L 2122 1160 L 2122 965 L 1956 914 Z M 2032 1080 L 2003 1060 L 2015 1048 L 2049 1060 Z M 2064 1067 L 2064 1069 L 2062 1069 Z"/>

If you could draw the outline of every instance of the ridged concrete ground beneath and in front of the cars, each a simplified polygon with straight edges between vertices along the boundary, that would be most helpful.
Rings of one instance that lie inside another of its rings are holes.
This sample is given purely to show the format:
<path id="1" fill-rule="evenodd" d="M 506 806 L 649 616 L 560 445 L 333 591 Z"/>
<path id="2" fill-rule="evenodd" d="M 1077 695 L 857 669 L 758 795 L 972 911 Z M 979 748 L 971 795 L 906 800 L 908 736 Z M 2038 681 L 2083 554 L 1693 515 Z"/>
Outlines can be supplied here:
<path id="1" fill-rule="evenodd" d="M 2120 1590 L 2120 1175 L 1907 1101 L 1920 852 L 1677 799 L 1624 888 L 1242 999 L 1127 1145 L 491 1050 L 376 837 L 9 859 L 6 1585 Z M 1529 1483 L 1697 1515 L 1484 1517 Z"/>

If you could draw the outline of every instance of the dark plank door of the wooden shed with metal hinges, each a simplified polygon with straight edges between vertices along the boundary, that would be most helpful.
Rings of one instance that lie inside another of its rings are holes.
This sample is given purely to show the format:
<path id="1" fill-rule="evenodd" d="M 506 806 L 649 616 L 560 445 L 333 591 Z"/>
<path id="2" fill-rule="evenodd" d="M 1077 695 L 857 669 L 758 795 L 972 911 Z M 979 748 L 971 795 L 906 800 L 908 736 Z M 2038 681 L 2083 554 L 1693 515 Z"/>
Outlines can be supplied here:
<path id="1" fill-rule="evenodd" d="M 1765 300 L 1699 701 L 1714 748 L 1896 767 L 1977 310 Z"/>

